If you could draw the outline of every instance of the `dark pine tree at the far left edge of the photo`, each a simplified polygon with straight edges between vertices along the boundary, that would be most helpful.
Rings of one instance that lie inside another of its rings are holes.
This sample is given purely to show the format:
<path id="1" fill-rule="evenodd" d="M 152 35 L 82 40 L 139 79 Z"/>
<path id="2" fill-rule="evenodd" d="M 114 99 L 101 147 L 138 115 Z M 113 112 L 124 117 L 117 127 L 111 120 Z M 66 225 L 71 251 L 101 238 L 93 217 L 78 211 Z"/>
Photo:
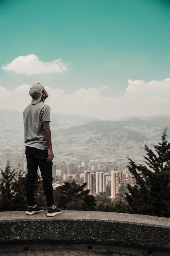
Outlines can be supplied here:
<path id="1" fill-rule="evenodd" d="M 0 211 L 10 211 L 13 206 L 14 192 L 12 183 L 15 176 L 15 170 L 11 170 L 10 162 L 7 161 L 5 171 L 1 169 L 2 180 L 0 183 Z"/>

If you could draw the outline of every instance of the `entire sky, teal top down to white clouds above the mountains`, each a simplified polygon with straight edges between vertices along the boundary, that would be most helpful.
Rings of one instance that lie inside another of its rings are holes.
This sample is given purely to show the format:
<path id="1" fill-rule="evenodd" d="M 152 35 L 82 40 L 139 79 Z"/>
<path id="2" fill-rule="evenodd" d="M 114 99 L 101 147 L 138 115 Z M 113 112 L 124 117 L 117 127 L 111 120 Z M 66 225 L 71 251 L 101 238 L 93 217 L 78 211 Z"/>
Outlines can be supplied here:
<path id="1" fill-rule="evenodd" d="M 23 111 L 38 82 L 51 113 L 169 114 L 169 11 L 161 0 L 2 1 L 0 109 Z"/>

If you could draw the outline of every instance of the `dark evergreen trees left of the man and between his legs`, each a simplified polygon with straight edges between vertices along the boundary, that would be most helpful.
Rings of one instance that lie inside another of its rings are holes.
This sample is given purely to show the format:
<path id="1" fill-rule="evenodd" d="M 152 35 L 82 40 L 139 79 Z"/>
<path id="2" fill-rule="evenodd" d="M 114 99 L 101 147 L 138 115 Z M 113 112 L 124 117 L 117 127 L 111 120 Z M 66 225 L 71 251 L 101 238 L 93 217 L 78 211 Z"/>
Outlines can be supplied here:
<path id="1" fill-rule="evenodd" d="M 0 211 L 26 210 L 28 207 L 25 192 L 26 174 L 20 170 L 20 165 L 18 173 L 15 170 L 11 170 L 9 161 L 7 161 L 5 171 L 1 170 L 1 172 Z M 39 175 L 37 175 L 35 180 L 34 194 L 36 202 L 39 205 L 45 206 L 45 210 L 48 210 L 43 190 L 43 181 Z"/>

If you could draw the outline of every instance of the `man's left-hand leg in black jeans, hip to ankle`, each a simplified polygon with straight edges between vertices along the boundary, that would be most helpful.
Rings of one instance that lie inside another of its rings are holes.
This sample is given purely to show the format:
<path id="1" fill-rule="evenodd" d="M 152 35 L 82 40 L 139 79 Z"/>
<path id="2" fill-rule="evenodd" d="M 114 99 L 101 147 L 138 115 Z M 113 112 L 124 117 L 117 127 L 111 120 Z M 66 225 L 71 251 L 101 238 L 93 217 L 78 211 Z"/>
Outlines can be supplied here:
<path id="1" fill-rule="evenodd" d="M 34 197 L 34 183 L 37 176 L 38 160 L 32 156 L 32 150 L 26 147 L 25 155 L 27 159 L 28 174 L 25 181 L 25 190 L 27 202 L 29 206 L 35 206 L 36 201 Z"/>

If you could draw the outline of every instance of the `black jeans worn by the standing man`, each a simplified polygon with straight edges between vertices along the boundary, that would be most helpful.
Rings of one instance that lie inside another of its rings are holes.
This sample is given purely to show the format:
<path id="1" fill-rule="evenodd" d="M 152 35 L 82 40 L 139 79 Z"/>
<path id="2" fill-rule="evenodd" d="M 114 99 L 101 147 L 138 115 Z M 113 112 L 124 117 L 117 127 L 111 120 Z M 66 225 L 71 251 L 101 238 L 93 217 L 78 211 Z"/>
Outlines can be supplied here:
<path id="1" fill-rule="evenodd" d="M 47 161 L 48 150 L 42 150 L 26 146 L 25 155 L 28 168 L 28 174 L 25 181 L 25 190 L 28 205 L 33 206 L 36 204 L 34 197 L 34 182 L 37 176 L 37 169 L 39 166 L 43 179 L 44 193 L 46 195 L 47 205 L 52 206 L 54 204 L 52 187 L 52 161 Z"/>

